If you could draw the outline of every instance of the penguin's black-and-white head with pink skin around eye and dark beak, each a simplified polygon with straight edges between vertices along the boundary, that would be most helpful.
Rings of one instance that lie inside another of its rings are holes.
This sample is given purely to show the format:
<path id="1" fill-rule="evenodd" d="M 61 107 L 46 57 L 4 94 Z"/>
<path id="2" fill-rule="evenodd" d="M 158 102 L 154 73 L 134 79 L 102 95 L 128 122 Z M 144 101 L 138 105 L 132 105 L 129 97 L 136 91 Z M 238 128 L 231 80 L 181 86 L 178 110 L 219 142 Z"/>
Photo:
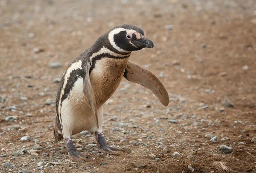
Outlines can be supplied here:
<path id="1" fill-rule="evenodd" d="M 143 29 L 132 24 L 122 24 L 112 28 L 108 32 L 108 40 L 113 48 L 120 52 L 154 47 L 154 43 L 145 37 Z"/>

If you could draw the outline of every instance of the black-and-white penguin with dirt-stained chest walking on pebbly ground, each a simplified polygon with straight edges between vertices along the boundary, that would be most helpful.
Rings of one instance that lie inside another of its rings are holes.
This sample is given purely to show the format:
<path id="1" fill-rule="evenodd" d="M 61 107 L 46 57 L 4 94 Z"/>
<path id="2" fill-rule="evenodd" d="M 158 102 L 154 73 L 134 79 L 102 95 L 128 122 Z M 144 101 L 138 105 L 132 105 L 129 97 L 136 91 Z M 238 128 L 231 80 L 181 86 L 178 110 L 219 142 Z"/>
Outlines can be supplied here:
<path id="1" fill-rule="evenodd" d="M 122 24 L 103 34 L 71 62 L 58 88 L 54 129 L 55 142 L 64 139 L 70 160 L 86 161 L 88 155 L 78 153 L 70 139 L 82 130 L 95 132 L 99 152 L 120 155 L 124 151 L 109 146 L 102 133 L 102 105 L 116 91 L 123 76 L 150 90 L 163 105 L 169 104 L 160 80 L 129 60 L 132 51 L 153 47 L 141 28 Z"/>

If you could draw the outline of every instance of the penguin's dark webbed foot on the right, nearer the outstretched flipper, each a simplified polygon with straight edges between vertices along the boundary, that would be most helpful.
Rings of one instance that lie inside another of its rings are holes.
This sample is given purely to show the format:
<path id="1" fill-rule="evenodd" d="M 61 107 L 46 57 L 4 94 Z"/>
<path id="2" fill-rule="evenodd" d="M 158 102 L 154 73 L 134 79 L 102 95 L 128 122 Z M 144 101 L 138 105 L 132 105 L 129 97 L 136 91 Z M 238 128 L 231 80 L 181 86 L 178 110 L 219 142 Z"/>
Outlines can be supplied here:
<path id="1" fill-rule="evenodd" d="M 120 152 L 125 152 L 125 150 L 121 148 L 111 147 L 107 144 L 106 139 L 103 135 L 103 133 L 95 132 L 95 136 L 97 139 L 97 145 L 98 145 L 98 151 L 104 154 L 111 154 L 120 156 Z"/>

